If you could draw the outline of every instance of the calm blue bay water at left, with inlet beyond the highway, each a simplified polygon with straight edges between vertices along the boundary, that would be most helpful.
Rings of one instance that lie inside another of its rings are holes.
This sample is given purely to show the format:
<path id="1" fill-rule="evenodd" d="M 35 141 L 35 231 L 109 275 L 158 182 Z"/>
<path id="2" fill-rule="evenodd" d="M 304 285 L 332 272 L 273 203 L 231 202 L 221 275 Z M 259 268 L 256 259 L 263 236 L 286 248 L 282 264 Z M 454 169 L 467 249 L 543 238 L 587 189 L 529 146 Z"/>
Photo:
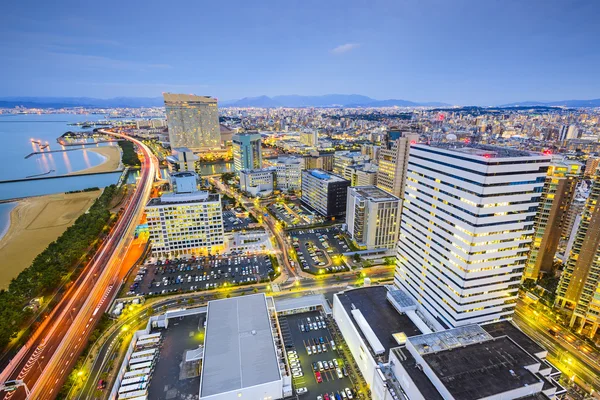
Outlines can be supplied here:
<path id="1" fill-rule="evenodd" d="M 106 187 L 118 182 L 121 173 L 97 174 L 86 176 L 57 177 L 52 179 L 34 179 L 19 182 L 4 182 L 35 177 L 36 175 L 52 177 L 65 175 L 101 164 L 104 157 L 80 149 L 46 153 L 25 158 L 32 152 L 40 151 L 41 146 L 48 146 L 44 151 L 61 150 L 63 147 L 56 141 L 67 131 L 91 130 L 69 125 L 76 122 L 97 121 L 107 119 L 101 114 L 19 114 L 0 115 L 0 238 L 9 226 L 9 215 L 15 202 L 7 202 L 31 196 L 41 196 L 82 190 L 90 187 Z M 107 143 L 97 146 L 109 145 Z M 114 145 L 114 144 L 112 144 Z M 89 146 L 86 146 L 89 148 Z M 69 147 L 71 148 L 71 147 Z M 232 170 L 231 163 L 207 164 L 202 166 L 201 175 L 212 175 Z M 163 171 L 163 175 L 166 171 Z M 135 182 L 138 171 L 132 171 L 128 182 Z"/>

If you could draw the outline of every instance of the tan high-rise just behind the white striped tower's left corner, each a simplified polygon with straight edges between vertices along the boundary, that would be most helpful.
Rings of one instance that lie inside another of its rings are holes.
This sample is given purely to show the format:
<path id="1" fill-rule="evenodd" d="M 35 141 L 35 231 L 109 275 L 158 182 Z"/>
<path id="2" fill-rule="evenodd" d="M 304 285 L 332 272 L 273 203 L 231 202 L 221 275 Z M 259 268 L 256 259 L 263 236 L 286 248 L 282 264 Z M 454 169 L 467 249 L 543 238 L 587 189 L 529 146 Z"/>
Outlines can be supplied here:
<path id="1" fill-rule="evenodd" d="M 385 146 L 379 149 L 377 187 L 402 199 L 411 144 L 419 135 L 413 132 L 390 130 Z"/>

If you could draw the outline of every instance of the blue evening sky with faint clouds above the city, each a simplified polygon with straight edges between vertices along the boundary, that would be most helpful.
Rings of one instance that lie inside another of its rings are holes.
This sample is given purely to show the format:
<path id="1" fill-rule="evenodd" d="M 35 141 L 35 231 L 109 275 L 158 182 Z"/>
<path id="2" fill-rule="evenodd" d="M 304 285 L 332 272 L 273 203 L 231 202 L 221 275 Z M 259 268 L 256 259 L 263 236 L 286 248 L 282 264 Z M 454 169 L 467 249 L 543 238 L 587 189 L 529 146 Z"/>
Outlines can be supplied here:
<path id="1" fill-rule="evenodd" d="M 0 96 L 600 98 L 600 1 L 9 1 Z"/>

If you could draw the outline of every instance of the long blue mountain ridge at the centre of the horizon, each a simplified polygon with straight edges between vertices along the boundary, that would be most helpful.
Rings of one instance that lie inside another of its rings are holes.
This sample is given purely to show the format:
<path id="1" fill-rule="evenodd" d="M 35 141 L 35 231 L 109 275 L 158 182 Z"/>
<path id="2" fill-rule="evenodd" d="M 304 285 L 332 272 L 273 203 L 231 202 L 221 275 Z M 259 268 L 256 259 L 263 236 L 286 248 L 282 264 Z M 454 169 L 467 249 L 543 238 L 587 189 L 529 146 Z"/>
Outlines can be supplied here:
<path id="1" fill-rule="evenodd" d="M 408 100 L 375 100 L 360 94 L 326 94 L 322 96 L 259 96 L 220 102 L 223 107 L 447 107 L 450 104 L 417 103 Z"/>

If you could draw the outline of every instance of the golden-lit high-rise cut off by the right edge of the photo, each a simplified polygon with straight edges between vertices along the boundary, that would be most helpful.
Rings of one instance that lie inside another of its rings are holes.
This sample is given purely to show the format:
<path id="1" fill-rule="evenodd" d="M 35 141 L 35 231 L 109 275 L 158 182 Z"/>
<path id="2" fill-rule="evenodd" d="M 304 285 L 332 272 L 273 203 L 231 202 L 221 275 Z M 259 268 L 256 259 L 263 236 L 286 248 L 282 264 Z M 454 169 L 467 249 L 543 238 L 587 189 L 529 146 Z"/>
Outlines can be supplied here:
<path id="1" fill-rule="evenodd" d="M 600 177 L 594 177 L 590 196 L 567 265 L 556 290 L 556 304 L 573 310 L 571 326 L 591 324 L 594 337 L 600 324 Z"/>

